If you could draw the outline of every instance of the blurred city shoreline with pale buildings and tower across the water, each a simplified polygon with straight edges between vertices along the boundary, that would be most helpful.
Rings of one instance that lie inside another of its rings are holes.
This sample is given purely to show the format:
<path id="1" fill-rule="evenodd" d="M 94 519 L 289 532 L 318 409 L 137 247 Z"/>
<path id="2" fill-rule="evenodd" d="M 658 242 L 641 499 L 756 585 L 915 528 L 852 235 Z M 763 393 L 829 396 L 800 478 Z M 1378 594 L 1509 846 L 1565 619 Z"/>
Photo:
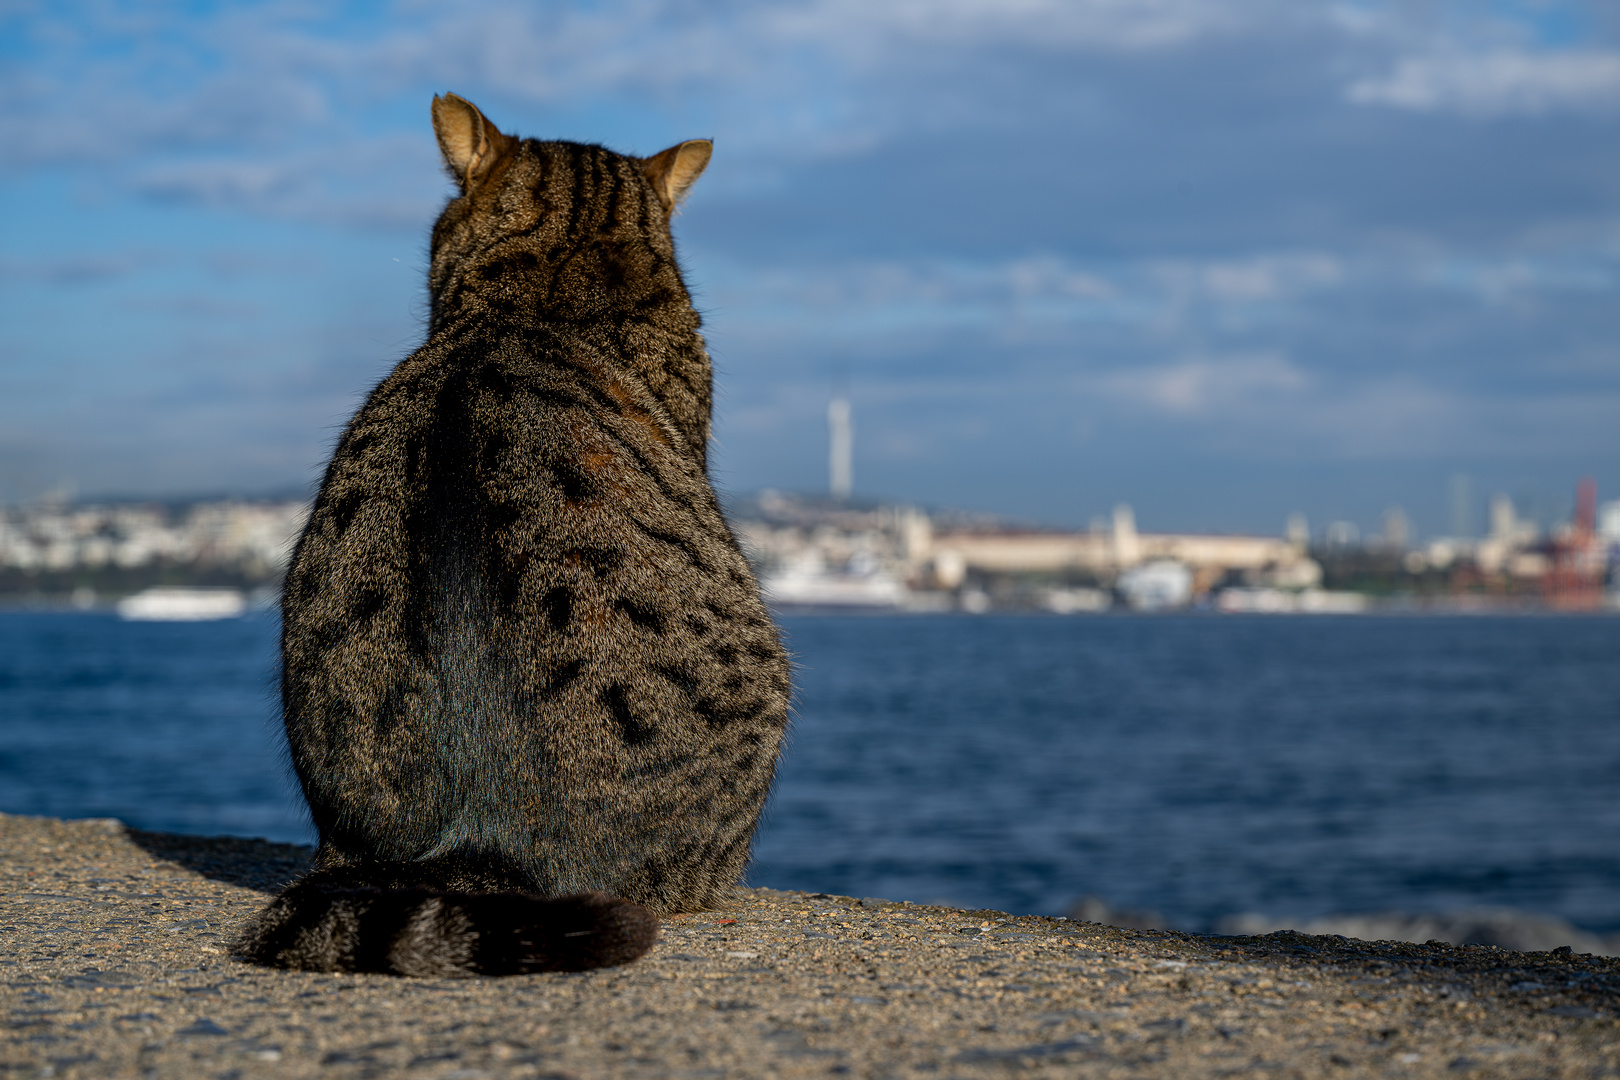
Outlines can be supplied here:
<path id="1" fill-rule="evenodd" d="M 838 410 L 829 421 L 836 432 Z M 829 465 L 838 479 L 836 455 Z M 1545 536 L 1498 495 L 1477 541 L 1422 541 L 1400 510 L 1383 536 L 1333 523 L 1315 538 L 1302 515 L 1283 534 L 1200 534 L 1142 529 L 1118 505 L 1089 529 L 1058 531 L 776 491 L 729 517 L 763 594 L 787 609 L 1620 610 L 1620 500 L 1597 505 L 1583 484 L 1580 502 L 1578 521 Z M 274 599 L 308 515 L 308 500 L 0 507 L 0 599 L 117 606 L 126 619 L 237 617 L 249 594 Z"/>

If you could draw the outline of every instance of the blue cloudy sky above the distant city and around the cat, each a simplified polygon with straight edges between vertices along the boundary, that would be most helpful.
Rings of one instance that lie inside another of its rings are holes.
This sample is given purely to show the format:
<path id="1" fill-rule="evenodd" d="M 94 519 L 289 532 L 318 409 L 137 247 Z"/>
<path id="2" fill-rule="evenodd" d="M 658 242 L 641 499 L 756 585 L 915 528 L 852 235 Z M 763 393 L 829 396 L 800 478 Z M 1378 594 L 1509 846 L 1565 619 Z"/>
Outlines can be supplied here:
<path id="1" fill-rule="evenodd" d="M 1620 497 L 1620 8 L 0 0 L 0 500 L 308 492 L 421 342 L 434 92 L 713 138 L 718 486 L 1418 536 Z"/>

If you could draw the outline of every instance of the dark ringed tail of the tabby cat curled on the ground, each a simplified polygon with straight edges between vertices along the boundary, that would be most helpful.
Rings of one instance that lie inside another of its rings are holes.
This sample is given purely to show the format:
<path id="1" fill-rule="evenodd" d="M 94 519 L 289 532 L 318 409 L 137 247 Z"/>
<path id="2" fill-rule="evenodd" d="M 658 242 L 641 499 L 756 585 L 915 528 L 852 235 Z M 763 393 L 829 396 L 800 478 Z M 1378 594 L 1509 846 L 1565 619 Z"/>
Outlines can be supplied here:
<path id="1" fill-rule="evenodd" d="M 630 900 L 465 892 L 411 866 L 314 871 L 248 925 L 235 952 L 298 972 L 465 978 L 616 967 L 658 942 L 658 916 Z"/>

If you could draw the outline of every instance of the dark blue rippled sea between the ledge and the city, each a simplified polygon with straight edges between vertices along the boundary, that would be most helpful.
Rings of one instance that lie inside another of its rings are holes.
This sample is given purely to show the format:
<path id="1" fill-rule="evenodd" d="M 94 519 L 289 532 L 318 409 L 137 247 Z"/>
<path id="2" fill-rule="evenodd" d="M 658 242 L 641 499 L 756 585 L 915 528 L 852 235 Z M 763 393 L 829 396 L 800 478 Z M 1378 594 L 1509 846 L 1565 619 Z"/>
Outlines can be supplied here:
<path id="1" fill-rule="evenodd" d="M 1620 931 L 1620 619 L 789 617 L 752 884 Z M 311 840 L 272 615 L 0 614 L 0 810 Z"/>

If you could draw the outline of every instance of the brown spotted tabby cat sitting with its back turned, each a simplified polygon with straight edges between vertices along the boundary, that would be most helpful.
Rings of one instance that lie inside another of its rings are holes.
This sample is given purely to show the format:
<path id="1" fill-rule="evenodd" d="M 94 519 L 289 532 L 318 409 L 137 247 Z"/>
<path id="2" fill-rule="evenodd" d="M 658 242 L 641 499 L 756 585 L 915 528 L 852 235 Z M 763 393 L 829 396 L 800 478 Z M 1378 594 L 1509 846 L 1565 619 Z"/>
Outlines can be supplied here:
<path id="1" fill-rule="evenodd" d="M 282 596 L 314 870 L 237 942 L 301 970 L 627 963 L 721 904 L 789 661 L 708 481 L 711 372 L 648 159 L 433 100 L 458 185 L 426 343 L 339 439 Z"/>

